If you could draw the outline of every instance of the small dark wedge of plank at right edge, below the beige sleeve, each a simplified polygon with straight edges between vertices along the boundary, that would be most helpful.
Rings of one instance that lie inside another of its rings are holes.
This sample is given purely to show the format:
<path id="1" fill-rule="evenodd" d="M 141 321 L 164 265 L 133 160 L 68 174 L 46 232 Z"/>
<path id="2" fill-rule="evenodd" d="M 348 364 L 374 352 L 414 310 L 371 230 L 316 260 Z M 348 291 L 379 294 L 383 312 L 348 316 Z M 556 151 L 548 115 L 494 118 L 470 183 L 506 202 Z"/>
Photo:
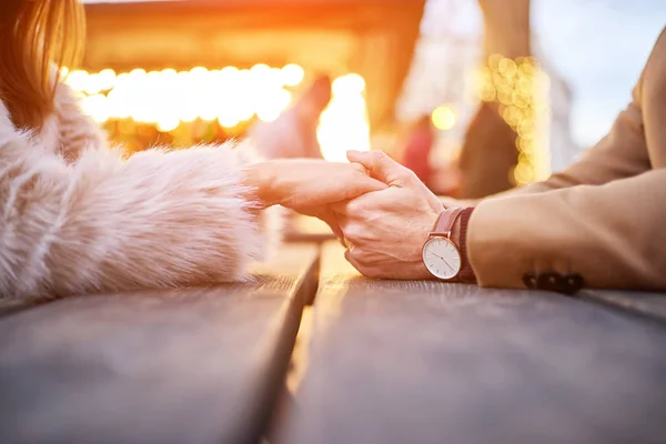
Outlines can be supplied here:
<path id="1" fill-rule="evenodd" d="M 666 293 L 585 290 L 581 296 L 666 322 Z"/>

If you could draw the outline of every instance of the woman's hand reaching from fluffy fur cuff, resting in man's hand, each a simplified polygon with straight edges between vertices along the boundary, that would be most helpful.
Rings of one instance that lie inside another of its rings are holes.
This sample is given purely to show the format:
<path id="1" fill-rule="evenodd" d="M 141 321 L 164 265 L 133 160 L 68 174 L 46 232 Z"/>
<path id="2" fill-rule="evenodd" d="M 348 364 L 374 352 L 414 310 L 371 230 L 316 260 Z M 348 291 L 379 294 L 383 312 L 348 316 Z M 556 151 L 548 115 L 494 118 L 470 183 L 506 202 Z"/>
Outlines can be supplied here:
<path id="1" fill-rule="evenodd" d="M 310 159 L 281 159 L 245 169 L 245 184 L 262 205 L 283 205 L 304 214 L 320 215 L 324 206 L 386 189 L 359 163 Z"/>

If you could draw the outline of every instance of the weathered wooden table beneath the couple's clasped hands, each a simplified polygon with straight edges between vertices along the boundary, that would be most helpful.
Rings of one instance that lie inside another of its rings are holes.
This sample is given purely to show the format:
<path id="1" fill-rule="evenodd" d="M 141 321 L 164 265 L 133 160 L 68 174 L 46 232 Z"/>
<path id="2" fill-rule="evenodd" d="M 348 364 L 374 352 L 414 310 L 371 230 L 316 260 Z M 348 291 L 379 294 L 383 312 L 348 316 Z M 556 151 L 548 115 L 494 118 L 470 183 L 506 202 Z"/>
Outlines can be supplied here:
<path id="1" fill-rule="evenodd" d="M 289 444 L 665 442 L 666 295 L 372 281 L 319 255 L 0 304 L 0 443 L 258 443 L 275 417 Z"/>

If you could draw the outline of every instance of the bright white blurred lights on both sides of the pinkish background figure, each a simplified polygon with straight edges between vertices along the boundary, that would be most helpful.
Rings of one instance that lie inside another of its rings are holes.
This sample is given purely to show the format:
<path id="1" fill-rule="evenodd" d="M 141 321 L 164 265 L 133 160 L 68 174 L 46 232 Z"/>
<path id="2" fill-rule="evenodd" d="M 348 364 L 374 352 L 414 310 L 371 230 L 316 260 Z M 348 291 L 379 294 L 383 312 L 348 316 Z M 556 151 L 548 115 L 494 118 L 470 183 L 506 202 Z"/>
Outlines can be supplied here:
<path id="1" fill-rule="evenodd" d="M 292 104 L 295 88 L 305 79 L 304 69 L 294 63 L 180 72 L 63 71 L 65 82 L 80 94 L 83 111 L 100 124 L 110 129 L 132 122 L 171 134 L 195 121 L 216 123 L 232 133 L 242 132 L 254 119 L 272 122 Z M 355 73 L 333 80 L 332 100 L 317 125 L 325 159 L 343 161 L 349 149 L 370 150 L 365 88 L 365 80 Z"/>

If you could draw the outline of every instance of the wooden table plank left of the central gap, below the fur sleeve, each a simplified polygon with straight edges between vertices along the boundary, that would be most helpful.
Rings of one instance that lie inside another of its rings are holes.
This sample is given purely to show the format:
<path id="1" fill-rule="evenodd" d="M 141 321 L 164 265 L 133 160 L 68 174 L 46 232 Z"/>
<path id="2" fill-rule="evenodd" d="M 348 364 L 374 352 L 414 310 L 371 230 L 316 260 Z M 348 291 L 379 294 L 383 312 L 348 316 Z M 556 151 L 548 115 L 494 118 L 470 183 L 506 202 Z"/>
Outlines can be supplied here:
<path id="1" fill-rule="evenodd" d="M 258 442 L 316 249 L 252 282 L 60 300 L 0 319 L 0 442 Z"/>

